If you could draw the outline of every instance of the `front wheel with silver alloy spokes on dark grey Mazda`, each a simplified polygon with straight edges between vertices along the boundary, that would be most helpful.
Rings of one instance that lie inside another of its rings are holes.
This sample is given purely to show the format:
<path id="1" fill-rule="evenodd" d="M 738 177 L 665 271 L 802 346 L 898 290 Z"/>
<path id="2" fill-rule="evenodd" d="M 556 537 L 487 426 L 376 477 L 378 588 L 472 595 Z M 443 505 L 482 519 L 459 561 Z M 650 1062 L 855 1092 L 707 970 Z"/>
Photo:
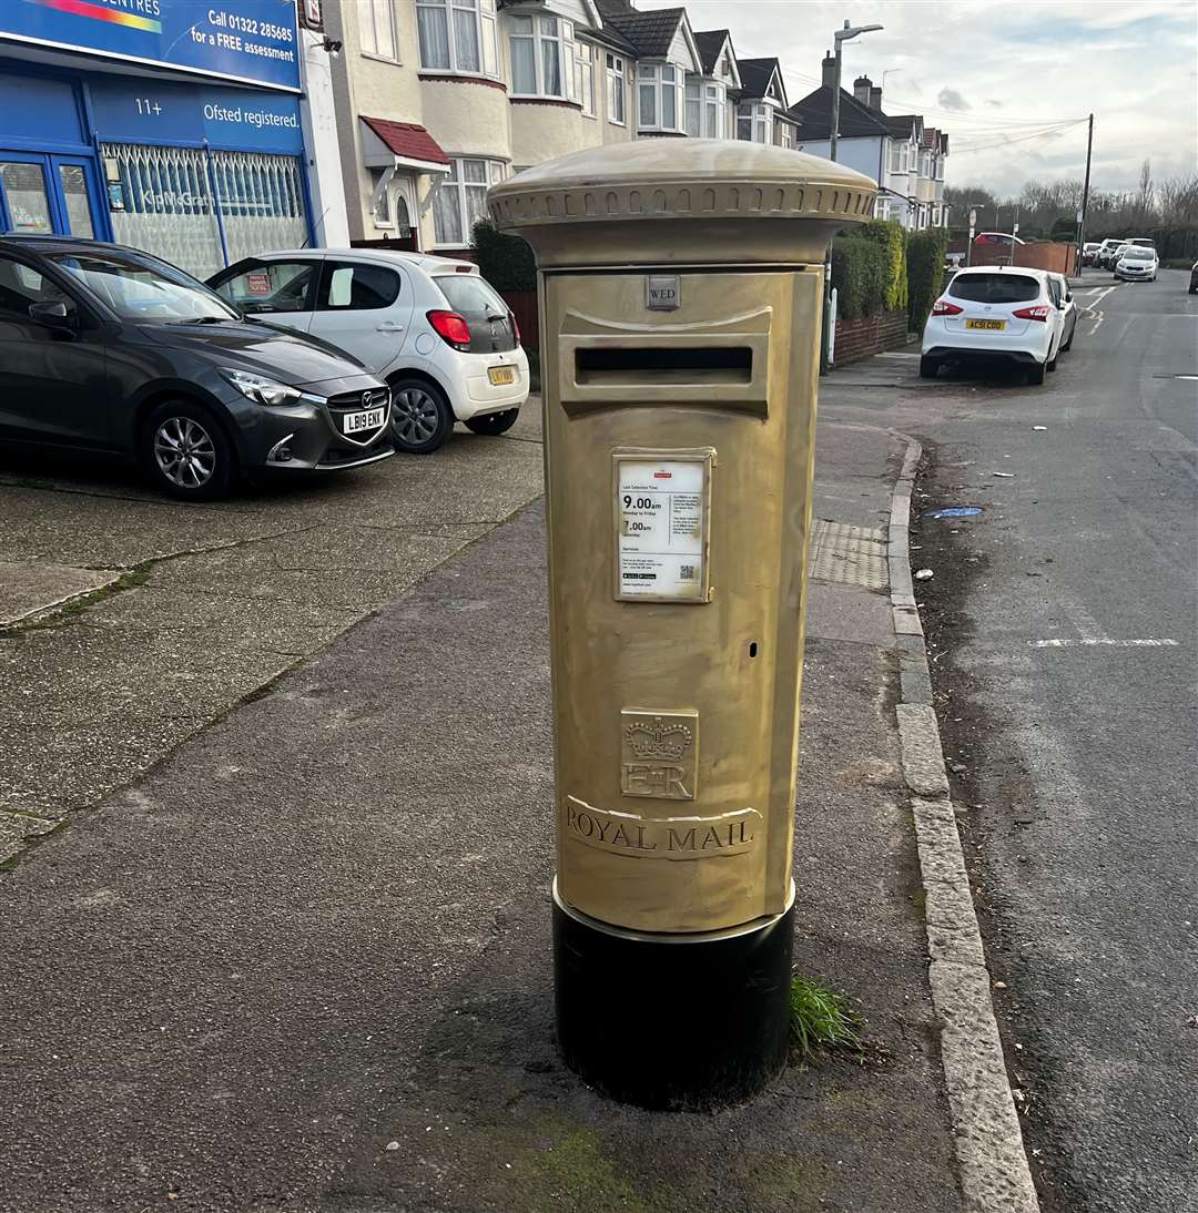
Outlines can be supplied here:
<path id="1" fill-rule="evenodd" d="M 228 494 L 237 452 L 211 411 L 192 400 L 168 400 L 146 420 L 142 466 L 164 492 L 182 501 Z"/>

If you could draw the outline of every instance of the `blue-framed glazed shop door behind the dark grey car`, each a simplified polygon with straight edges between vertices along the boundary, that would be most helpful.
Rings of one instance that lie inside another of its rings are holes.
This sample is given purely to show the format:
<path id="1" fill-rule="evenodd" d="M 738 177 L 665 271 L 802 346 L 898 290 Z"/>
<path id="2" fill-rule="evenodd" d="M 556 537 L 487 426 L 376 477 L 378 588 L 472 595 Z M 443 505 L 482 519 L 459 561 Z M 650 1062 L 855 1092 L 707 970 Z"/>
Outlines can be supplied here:
<path id="1" fill-rule="evenodd" d="M 90 160 L 0 149 L 0 232 L 103 237 Z"/>

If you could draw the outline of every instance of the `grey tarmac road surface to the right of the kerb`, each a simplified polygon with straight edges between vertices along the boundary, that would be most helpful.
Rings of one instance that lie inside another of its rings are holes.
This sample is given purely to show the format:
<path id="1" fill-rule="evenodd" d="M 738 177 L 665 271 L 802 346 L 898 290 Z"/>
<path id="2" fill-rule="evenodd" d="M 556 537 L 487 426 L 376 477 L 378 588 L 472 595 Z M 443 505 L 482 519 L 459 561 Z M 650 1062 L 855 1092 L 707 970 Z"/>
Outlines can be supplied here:
<path id="1" fill-rule="evenodd" d="M 1164 270 L 1077 300 L 1043 388 L 895 357 L 821 408 L 929 443 L 925 511 L 983 508 L 925 512 L 913 562 L 1045 1213 L 1193 1213 L 1198 297 Z"/>

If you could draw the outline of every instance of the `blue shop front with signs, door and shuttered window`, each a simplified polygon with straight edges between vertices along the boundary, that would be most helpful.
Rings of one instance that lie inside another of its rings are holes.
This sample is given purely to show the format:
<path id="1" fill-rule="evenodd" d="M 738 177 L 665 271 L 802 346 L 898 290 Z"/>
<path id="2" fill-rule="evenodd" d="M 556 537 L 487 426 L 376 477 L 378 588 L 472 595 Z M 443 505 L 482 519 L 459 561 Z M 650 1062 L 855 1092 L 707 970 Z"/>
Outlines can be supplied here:
<path id="1" fill-rule="evenodd" d="M 205 278 L 311 239 L 295 0 L 0 0 L 0 232 Z"/>

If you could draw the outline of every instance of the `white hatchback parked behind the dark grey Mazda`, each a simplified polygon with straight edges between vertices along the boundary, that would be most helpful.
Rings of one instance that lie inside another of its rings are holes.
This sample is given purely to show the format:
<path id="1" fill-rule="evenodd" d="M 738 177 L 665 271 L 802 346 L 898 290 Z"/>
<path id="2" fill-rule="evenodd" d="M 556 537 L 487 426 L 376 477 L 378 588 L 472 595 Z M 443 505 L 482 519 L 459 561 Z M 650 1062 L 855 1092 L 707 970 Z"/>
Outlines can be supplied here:
<path id="1" fill-rule="evenodd" d="M 528 399 L 515 317 L 472 262 L 302 249 L 246 257 L 208 285 L 242 312 L 319 337 L 385 378 L 402 451 L 437 450 L 454 421 L 501 434 Z"/>

